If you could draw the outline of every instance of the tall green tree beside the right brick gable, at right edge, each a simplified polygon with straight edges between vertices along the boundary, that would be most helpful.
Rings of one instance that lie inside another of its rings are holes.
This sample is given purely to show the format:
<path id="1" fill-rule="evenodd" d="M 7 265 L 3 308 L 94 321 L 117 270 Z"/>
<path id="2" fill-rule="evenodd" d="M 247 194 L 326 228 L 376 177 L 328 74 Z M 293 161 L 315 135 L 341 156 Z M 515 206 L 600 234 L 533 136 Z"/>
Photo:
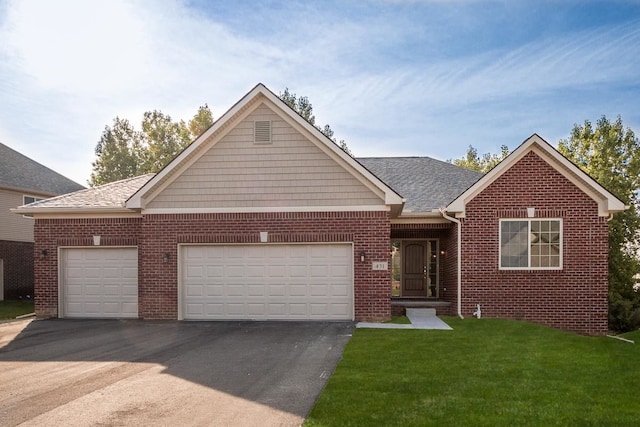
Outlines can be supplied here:
<path id="1" fill-rule="evenodd" d="M 638 328 L 640 294 L 633 286 L 640 273 L 640 142 L 619 116 L 614 122 L 602 116 L 595 127 L 588 120 L 574 125 L 558 150 L 629 206 L 609 222 L 609 325 Z"/>

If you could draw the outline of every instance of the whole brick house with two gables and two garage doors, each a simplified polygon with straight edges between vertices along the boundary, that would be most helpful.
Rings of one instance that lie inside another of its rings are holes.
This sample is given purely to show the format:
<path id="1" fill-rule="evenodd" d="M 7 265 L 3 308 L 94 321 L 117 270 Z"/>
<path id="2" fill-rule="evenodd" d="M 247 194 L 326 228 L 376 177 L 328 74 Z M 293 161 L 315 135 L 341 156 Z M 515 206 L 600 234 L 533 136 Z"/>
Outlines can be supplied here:
<path id="1" fill-rule="evenodd" d="M 353 159 L 257 85 L 158 174 L 17 209 L 36 312 L 382 320 L 408 306 L 607 331 L 624 204 L 533 135 L 486 175 Z"/>

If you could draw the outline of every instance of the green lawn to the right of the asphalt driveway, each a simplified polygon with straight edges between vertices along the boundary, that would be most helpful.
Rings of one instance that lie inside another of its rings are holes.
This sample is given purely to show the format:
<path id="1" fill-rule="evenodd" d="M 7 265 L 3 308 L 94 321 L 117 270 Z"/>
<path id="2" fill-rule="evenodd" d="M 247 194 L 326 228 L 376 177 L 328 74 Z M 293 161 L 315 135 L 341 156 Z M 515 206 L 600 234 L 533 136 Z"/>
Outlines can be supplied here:
<path id="1" fill-rule="evenodd" d="M 444 320 L 453 331 L 356 329 L 305 426 L 637 425 L 640 345 Z"/>

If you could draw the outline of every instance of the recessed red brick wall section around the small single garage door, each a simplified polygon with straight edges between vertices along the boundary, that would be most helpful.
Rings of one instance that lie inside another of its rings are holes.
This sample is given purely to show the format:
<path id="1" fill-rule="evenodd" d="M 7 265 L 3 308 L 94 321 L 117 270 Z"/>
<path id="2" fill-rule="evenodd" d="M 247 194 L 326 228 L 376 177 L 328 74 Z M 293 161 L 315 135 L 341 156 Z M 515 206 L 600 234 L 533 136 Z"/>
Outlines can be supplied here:
<path id="1" fill-rule="evenodd" d="M 36 219 L 35 222 L 35 310 L 38 317 L 58 316 L 58 248 L 93 246 L 138 246 L 141 218 Z M 42 256 L 43 250 L 47 254 Z M 140 254 L 138 252 L 138 257 Z M 138 273 L 138 277 L 140 274 Z"/>

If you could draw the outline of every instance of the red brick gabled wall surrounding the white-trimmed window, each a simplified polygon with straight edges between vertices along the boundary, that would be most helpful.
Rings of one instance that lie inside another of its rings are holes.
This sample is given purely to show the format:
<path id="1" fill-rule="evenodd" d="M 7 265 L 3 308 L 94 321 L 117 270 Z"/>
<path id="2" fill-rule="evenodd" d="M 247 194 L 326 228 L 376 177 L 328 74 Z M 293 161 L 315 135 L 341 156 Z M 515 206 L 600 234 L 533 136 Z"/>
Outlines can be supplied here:
<path id="1" fill-rule="evenodd" d="M 562 218 L 563 268 L 499 270 L 500 218 Z M 462 311 L 524 319 L 587 335 L 607 332 L 608 226 L 597 204 L 533 152 L 466 206 Z"/>

